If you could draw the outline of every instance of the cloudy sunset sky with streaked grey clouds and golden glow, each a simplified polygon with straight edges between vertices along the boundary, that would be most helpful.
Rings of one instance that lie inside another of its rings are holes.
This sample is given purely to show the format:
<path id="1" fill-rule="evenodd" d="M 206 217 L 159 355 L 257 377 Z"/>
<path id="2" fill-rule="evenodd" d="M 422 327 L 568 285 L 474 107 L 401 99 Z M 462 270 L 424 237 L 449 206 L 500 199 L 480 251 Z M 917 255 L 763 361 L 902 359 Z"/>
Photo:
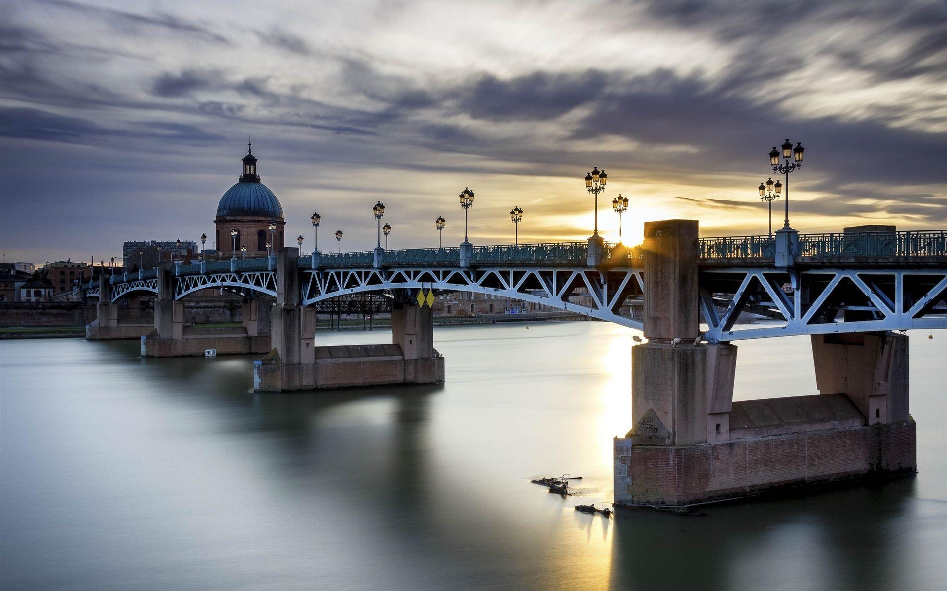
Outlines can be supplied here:
<path id="1" fill-rule="evenodd" d="M 109 258 L 213 235 L 247 137 L 312 249 L 582 240 L 608 173 L 642 224 L 759 235 L 768 152 L 802 233 L 947 228 L 947 3 L 0 0 L 0 252 Z M 781 225 L 783 201 L 774 203 Z M 212 240 L 212 238 L 211 238 Z M 290 242 L 288 239 L 287 242 Z M 211 247 L 208 244 L 208 248 Z"/>

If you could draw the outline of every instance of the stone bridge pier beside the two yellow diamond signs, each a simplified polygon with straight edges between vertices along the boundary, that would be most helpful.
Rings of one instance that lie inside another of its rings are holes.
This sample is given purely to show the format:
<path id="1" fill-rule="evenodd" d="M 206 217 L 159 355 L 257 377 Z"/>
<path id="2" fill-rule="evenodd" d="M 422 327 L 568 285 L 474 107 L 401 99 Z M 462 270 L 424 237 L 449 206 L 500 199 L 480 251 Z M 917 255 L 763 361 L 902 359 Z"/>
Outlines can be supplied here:
<path id="1" fill-rule="evenodd" d="M 315 310 L 300 301 L 298 249 L 277 253 L 273 349 L 254 363 L 254 391 L 305 391 L 444 381 L 431 308 L 394 304 L 390 344 L 315 346 Z"/>

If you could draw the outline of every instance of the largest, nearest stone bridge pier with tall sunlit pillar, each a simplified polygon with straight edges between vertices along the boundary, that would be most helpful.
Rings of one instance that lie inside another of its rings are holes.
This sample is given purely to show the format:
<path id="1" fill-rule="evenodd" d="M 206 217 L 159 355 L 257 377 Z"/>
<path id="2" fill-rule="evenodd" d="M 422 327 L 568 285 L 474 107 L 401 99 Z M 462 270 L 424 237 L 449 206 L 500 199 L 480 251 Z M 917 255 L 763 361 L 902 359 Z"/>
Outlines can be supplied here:
<path id="1" fill-rule="evenodd" d="M 737 347 L 699 339 L 698 223 L 645 223 L 644 333 L 615 501 L 686 506 L 916 470 L 907 338 L 812 337 L 819 393 L 733 401 Z M 778 368 L 774 368 L 778 373 Z"/>

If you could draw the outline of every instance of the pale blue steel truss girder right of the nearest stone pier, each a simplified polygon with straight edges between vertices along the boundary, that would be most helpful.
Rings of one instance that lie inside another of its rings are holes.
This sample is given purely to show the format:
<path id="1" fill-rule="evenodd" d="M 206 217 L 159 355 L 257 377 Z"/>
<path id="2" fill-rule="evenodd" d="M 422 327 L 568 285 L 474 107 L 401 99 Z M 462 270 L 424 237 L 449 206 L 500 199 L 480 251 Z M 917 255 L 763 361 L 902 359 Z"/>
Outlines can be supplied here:
<path id="1" fill-rule="evenodd" d="M 713 282 L 706 281 L 707 277 L 722 274 L 740 279 L 740 287 L 724 297 L 712 293 Z M 705 338 L 711 342 L 947 328 L 947 311 L 938 313 L 928 309 L 937 303 L 938 296 L 947 289 L 947 269 L 818 269 L 789 273 L 779 273 L 772 268 L 714 269 L 705 271 L 704 276 L 700 304 L 707 324 Z M 908 293 L 906 287 L 912 276 L 915 279 L 926 277 L 930 287 Z M 777 285 L 778 278 L 782 277 L 789 279 L 792 288 L 788 293 Z M 879 278 L 885 280 L 884 285 L 889 289 L 881 288 L 872 281 Z M 809 297 L 808 287 L 816 283 L 821 291 L 815 297 Z M 762 291 L 759 290 L 760 286 Z M 765 294 L 766 299 L 753 301 L 761 293 Z M 840 301 L 851 294 L 860 296 L 864 301 L 857 304 Z M 911 299 L 908 299 L 909 296 Z M 783 323 L 779 326 L 749 325 L 734 329 L 741 312 L 751 308 Z M 846 320 L 846 312 L 871 318 Z"/>

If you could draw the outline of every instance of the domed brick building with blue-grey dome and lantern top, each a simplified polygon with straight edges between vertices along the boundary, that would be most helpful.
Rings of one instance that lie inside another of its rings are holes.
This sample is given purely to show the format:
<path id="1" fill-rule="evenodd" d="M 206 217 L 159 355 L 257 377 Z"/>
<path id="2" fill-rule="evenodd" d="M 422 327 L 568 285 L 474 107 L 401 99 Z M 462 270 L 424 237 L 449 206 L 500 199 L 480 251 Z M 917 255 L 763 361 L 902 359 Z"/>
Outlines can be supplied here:
<path id="1" fill-rule="evenodd" d="M 250 144 L 246 145 L 243 156 L 243 170 L 240 180 L 223 194 L 217 204 L 217 217 L 214 227 L 217 230 L 217 250 L 228 257 L 234 252 L 234 239 L 231 231 L 237 230 L 237 257 L 241 247 L 246 247 L 247 256 L 266 256 L 266 245 L 271 239 L 275 251 L 283 250 L 283 208 L 277 196 L 268 186 L 259 181 L 257 157 L 253 155 Z M 270 223 L 276 224 L 271 233 Z"/>

